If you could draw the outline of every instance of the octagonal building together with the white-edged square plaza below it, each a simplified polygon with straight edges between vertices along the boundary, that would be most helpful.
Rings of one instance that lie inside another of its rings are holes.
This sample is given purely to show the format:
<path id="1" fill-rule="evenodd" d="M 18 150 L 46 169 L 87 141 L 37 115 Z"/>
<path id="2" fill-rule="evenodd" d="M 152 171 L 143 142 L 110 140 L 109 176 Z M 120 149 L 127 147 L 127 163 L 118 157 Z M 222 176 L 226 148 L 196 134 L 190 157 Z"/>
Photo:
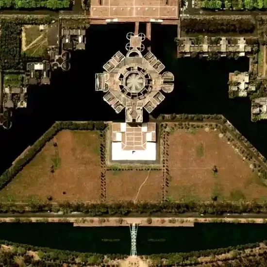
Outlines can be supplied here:
<path id="1" fill-rule="evenodd" d="M 156 124 L 143 123 L 143 108 L 151 113 L 172 92 L 174 76 L 142 43 L 145 35 L 128 33 L 127 54 L 120 51 L 96 74 L 96 90 L 116 113 L 125 109 L 125 122 L 112 125 L 111 160 L 156 160 Z"/>

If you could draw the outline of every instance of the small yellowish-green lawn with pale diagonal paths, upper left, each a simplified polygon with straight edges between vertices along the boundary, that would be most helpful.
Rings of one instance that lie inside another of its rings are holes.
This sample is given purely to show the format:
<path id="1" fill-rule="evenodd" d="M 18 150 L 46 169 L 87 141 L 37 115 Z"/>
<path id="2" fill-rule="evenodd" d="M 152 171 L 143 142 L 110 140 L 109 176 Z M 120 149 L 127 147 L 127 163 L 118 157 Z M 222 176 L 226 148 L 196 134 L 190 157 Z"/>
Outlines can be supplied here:
<path id="1" fill-rule="evenodd" d="M 40 30 L 39 25 L 25 25 L 22 28 L 21 51 L 29 57 L 42 57 L 48 49 L 48 26 Z"/>

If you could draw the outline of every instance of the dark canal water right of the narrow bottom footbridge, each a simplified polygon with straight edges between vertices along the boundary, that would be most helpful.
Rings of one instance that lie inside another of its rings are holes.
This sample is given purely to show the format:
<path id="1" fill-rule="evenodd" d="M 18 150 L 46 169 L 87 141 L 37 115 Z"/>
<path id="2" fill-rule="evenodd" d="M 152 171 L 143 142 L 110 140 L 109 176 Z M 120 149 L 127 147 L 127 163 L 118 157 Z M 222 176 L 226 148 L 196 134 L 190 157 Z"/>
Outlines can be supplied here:
<path id="1" fill-rule="evenodd" d="M 137 253 L 150 255 L 226 248 L 267 238 L 267 225 L 196 223 L 195 227 L 139 227 Z"/>

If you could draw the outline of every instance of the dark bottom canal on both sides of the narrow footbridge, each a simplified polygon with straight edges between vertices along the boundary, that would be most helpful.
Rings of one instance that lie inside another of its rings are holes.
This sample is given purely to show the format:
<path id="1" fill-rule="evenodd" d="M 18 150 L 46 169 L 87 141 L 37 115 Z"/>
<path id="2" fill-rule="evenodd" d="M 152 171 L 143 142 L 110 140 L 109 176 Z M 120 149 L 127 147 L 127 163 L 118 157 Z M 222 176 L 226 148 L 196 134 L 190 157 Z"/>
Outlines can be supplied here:
<path id="1" fill-rule="evenodd" d="M 71 223 L 1 223 L 0 239 L 33 246 L 130 254 L 129 227 L 73 227 Z M 266 224 L 196 223 L 195 227 L 137 230 L 137 254 L 189 252 L 267 240 Z"/>

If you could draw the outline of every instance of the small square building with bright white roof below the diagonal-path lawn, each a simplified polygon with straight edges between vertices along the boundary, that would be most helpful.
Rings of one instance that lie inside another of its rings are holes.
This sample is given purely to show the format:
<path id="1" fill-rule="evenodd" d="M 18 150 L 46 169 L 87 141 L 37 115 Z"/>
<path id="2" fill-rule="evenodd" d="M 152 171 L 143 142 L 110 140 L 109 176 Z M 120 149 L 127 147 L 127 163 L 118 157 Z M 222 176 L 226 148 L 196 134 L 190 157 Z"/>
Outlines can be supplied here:
<path id="1" fill-rule="evenodd" d="M 30 62 L 27 63 L 27 84 L 50 84 L 50 63 Z"/>

